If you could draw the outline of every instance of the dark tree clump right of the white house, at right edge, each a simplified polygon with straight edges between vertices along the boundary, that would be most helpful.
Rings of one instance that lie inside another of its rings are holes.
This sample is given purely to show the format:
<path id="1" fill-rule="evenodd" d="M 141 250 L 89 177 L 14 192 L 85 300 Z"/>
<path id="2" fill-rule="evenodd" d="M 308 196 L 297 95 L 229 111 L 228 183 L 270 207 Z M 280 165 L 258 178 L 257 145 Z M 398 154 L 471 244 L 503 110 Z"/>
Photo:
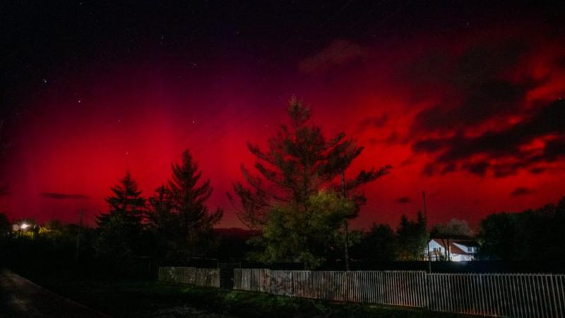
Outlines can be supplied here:
<path id="1" fill-rule="evenodd" d="M 557 261 L 565 246 L 565 197 L 521 213 L 499 213 L 484 218 L 478 235 L 482 259 Z"/>

